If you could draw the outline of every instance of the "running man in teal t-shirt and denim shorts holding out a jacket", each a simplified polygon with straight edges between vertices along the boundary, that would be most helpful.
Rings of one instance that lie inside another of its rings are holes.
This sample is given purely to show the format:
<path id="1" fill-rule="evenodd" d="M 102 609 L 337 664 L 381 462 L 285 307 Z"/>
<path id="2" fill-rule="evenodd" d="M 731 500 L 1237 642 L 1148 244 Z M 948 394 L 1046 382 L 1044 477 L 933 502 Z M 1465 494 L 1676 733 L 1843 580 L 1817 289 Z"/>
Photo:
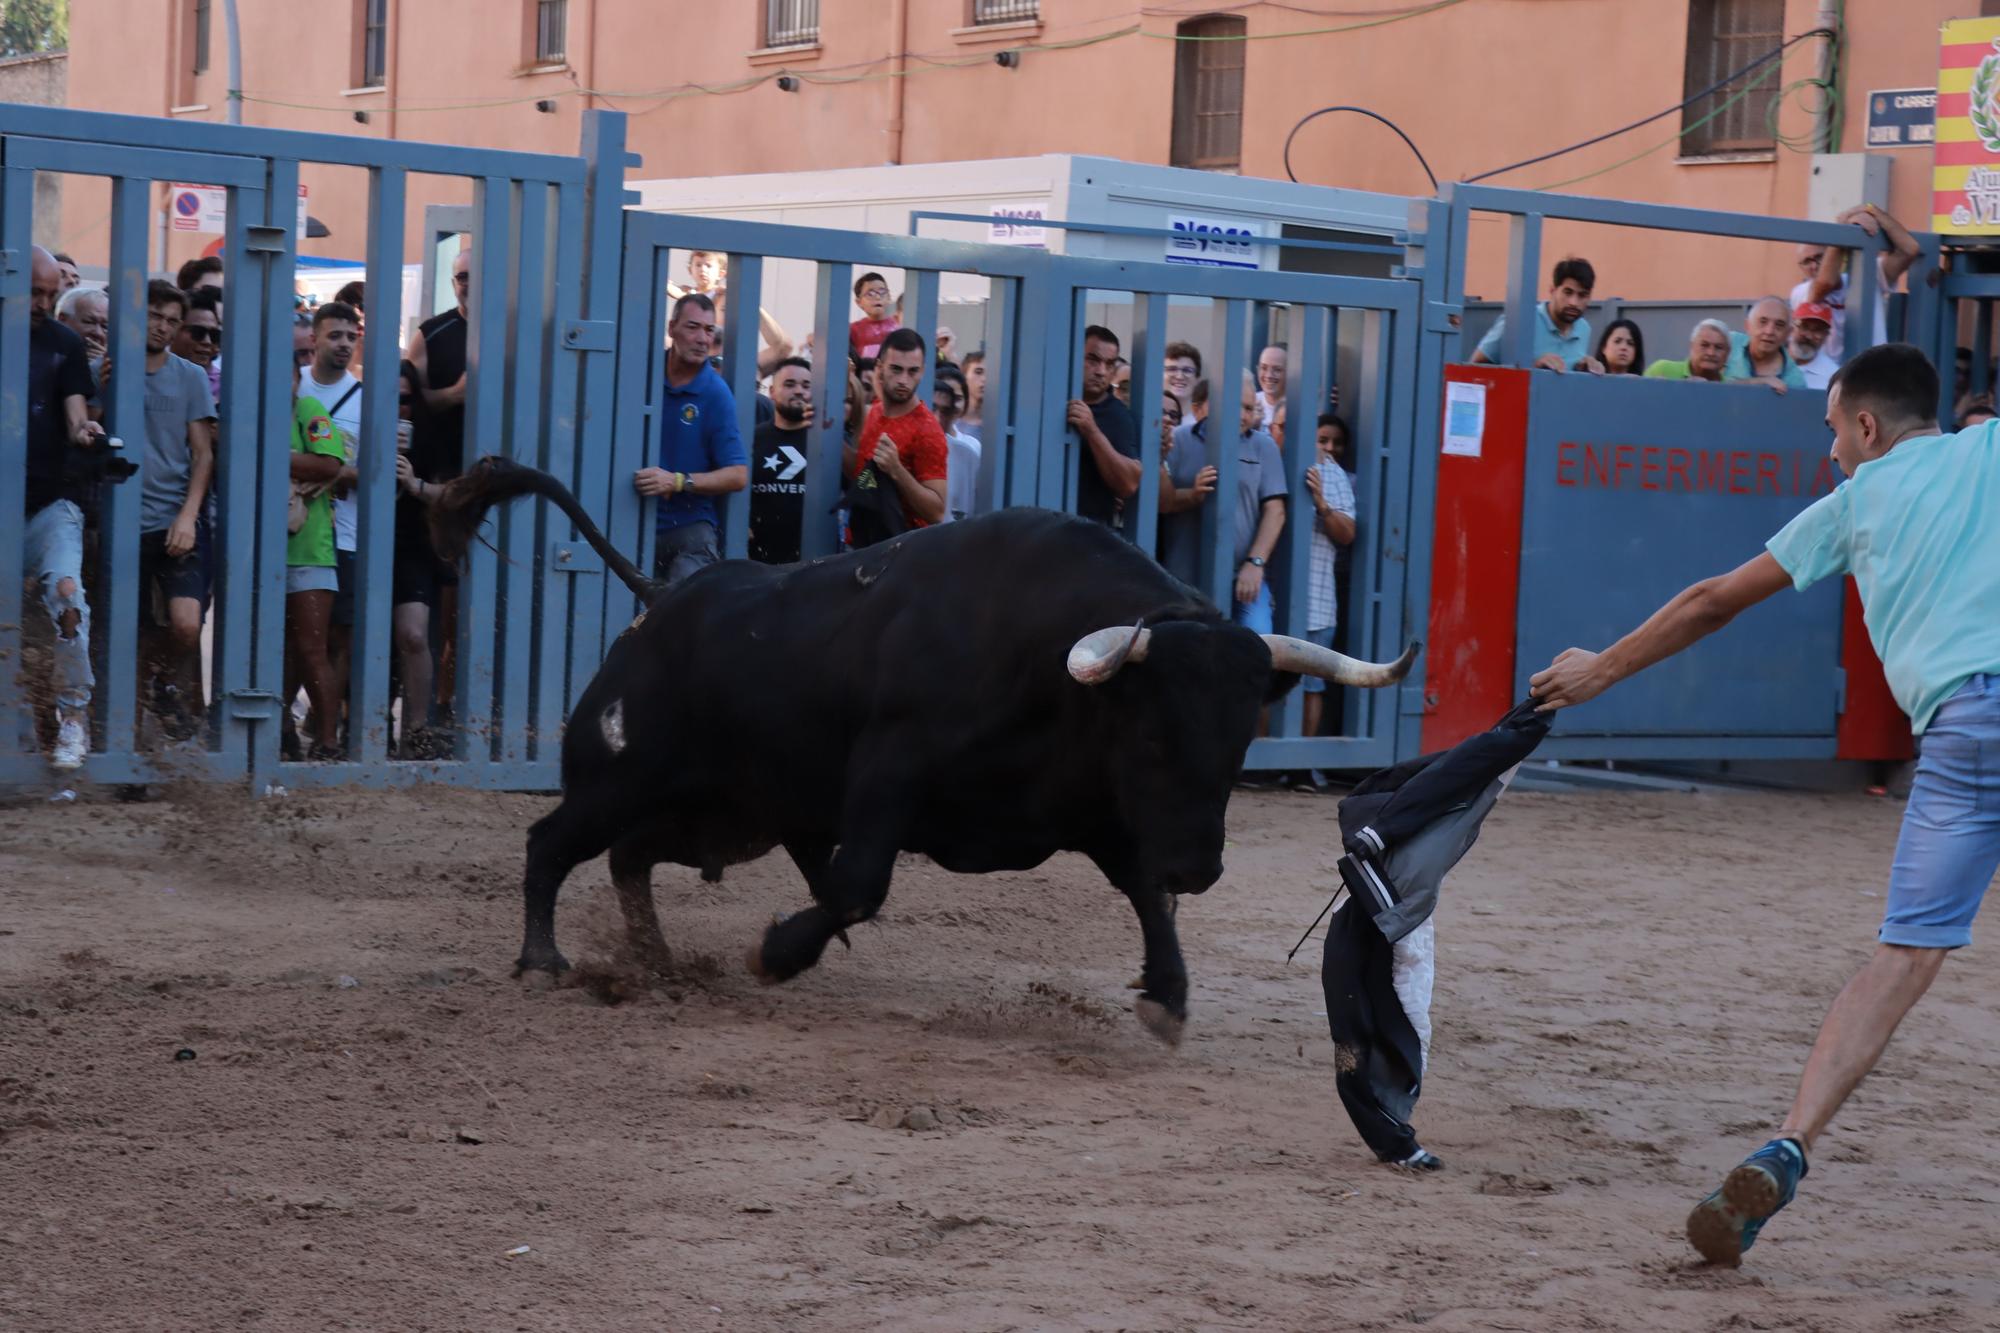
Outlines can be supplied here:
<path id="1" fill-rule="evenodd" d="M 1688 1217 L 1688 1241 L 1712 1263 L 1740 1261 L 1792 1201 L 1814 1139 L 1944 955 L 1972 943 L 2000 871 L 2000 422 L 1944 434 L 1936 414 L 1938 372 L 1920 350 L 1868 348 L 1826 390 L 1846 482 L 1754 560 L 1694 584 L 1604 652 L 1570 648 L 1530 681 L 1544 709 L 1580 705 L 1784 586 L 1854 574 L 1890 691 L 1924 737 L 1876 953 L 1820 1025 L 1778 1137 Z"/>

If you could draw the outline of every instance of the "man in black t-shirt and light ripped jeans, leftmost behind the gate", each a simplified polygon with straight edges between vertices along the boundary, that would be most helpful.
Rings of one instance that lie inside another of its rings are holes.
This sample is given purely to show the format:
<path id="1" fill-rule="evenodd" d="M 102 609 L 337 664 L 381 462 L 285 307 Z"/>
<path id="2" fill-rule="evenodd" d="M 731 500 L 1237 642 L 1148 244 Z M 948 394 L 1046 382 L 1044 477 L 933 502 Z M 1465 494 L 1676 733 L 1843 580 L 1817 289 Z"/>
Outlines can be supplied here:
<path id="1" fill-rule="evenodd" d="M 62 268 L 42 246 L 28 278 L 28 502 L 22 570 L 40 580 L 56 626 L 56 769 L 80 769 L 90 753 L 90 602 L 84 598 L 84 514 L 96 506 L 96 468 L 82 450 L 104 440 L 86 404 L 96 394 L 90 354 L 56 320 Z"/>

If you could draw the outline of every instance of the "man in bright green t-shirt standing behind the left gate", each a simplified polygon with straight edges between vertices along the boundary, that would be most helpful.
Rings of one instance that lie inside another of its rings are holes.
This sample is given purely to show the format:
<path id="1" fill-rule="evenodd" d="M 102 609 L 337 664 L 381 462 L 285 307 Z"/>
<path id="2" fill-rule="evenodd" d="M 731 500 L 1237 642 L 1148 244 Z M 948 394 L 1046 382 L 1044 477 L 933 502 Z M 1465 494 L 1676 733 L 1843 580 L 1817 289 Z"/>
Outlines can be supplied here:
<path id="1" fill-rule="evenodd" d="M 340 588 L 334 570 L 332 484 L 344 462 L 346 450 L 326 406 L 318 398 L 298 398 L 292 408 L 292 488 L 304 500 L 306 512 L 284 546 L 286 713 L 280 735 L 286 751 L 298 745 L 290 707 L 298 699 L 298 687 L 304 685 L 320 733 L 306 751 L 310 761 L 340 759 L 340 693 L 334 689 L 326 636 L 334 616 L 334 592 Z"/>

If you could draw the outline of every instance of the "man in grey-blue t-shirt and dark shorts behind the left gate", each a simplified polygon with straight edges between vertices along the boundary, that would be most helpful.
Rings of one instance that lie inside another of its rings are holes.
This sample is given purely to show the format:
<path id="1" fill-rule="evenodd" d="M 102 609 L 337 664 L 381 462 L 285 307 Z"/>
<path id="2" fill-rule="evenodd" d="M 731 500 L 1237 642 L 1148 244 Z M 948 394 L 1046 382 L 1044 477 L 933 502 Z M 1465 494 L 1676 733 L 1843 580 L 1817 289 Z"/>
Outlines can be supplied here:
<path id="1" fill-rule="evenodd" d="M 208 608 L 208 532 L 202 504 L 214 476 L 216 402 L 208 376 L 168 344 L 188 316 L 172 282 L 146 286 L 146 452 L 140 468 L 140 656 L 152 703 L 176 741 L 194 735 L 200 709 L 202 612 Z M 100 392 L 112 402 L 112 390 Z"/>

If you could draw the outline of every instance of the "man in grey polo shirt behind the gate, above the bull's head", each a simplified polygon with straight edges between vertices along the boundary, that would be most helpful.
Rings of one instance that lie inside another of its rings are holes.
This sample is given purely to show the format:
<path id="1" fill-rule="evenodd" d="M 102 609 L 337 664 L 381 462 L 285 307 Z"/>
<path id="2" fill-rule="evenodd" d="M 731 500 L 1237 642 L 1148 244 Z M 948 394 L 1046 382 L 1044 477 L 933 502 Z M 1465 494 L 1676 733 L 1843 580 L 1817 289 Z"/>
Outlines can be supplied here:
<path id="1" fill-rule="evenodd" d="M 1194 386 L 1196 406 L 1206 404 L 1206 380 Z M 1220 404 L 1218 404 L 1220 406 Z M 1212 472 L 1202 484 L 1212 452 L 1208 432 L 1226 420 L 1226 412 L 1210 412 L 1192 422 L 1182 422 L 1174 430 L 1174 452 L 1168 456 L 1168 480 L 1172 492 L 1160 496 L 1160 564 L 1182 582 L 1202 588 L 1200 544 L 1202 544 L 1202 504 L 1210 502 Z M 1284 460 L 1278 444 L 1258 428 L 1262 410 L 1256 400 L 1256 384 L 1244 376 L 1240 414 L 1236 420 L 1236 496 L 1224 510 L 1222 532 L 1230 544 L 1232 586 L 1230 618 L 1254 628 L 1260 634 L 1272 632 L 1270 588 L 1264 582 L 1264 562 L 1278 546 L 1284 530 Z M 1206 588 L 1202 588 L 1206 592 Z"/>

